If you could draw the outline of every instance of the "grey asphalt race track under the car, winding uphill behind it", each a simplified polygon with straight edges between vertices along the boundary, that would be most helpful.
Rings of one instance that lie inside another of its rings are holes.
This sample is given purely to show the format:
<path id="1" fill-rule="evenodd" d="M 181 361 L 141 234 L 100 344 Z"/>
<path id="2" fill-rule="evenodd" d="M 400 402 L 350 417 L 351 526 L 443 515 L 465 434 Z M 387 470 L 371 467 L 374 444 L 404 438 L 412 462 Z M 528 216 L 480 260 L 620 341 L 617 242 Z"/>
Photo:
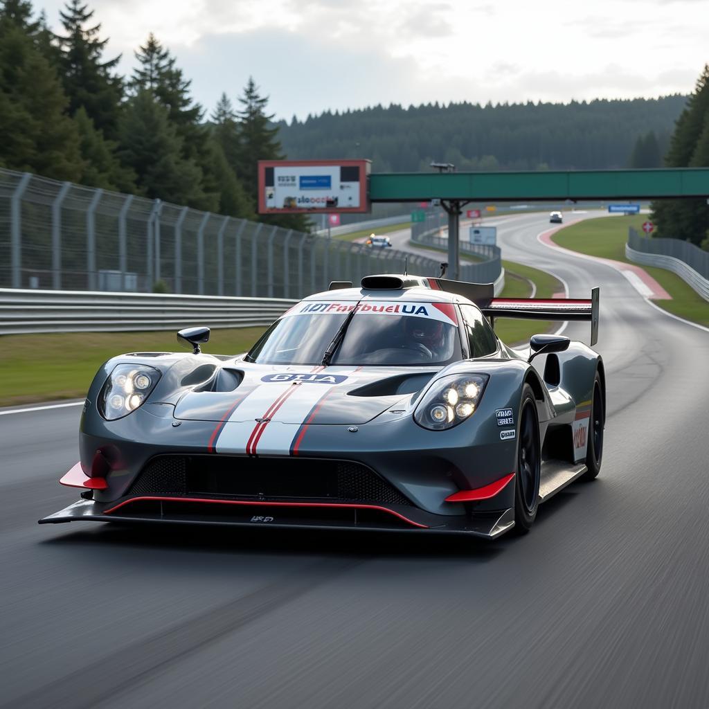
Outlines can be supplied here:
<path id="1" fill-rule="evenodd" d="M 1 706 L 708 707 L 709 332 L 547 228 L 499 241 L 571 296 L 601 286 L 596 481 L 493 543 L 39 526 L 76 498 L 80 407 L 0 415 Z"/>

